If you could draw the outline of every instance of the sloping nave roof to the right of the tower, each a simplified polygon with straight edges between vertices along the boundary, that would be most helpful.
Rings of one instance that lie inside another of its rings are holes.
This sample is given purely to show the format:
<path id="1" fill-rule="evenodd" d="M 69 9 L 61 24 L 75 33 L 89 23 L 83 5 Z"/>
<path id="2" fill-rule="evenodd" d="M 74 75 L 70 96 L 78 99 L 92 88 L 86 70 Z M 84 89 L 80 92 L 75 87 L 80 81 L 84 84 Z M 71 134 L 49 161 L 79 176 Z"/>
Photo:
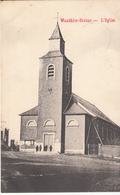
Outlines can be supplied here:
<path id="1" fill-rule="evenodd" d="M 101 118 L 109 123 L 116 125 L 111 121 L 104 113 L 102 113 L 95 105 L 84 100 L 83 98 L 72 93 L 68 106 L 66 107 L 64 114 L 89 114 L 94 117 Z"/>

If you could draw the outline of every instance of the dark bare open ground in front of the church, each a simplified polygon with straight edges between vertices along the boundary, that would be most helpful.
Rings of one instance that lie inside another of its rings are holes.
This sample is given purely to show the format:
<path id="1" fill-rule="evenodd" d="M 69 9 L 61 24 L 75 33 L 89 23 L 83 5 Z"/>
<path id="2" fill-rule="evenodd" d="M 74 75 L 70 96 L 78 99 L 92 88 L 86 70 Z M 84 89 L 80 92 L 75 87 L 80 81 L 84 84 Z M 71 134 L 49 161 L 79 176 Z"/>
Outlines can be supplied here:
<path id="1" fill-rule="evenodd" d="M 120 162 L 85 155 L 2 151 L 2 192 L 118 192 Z"/>

